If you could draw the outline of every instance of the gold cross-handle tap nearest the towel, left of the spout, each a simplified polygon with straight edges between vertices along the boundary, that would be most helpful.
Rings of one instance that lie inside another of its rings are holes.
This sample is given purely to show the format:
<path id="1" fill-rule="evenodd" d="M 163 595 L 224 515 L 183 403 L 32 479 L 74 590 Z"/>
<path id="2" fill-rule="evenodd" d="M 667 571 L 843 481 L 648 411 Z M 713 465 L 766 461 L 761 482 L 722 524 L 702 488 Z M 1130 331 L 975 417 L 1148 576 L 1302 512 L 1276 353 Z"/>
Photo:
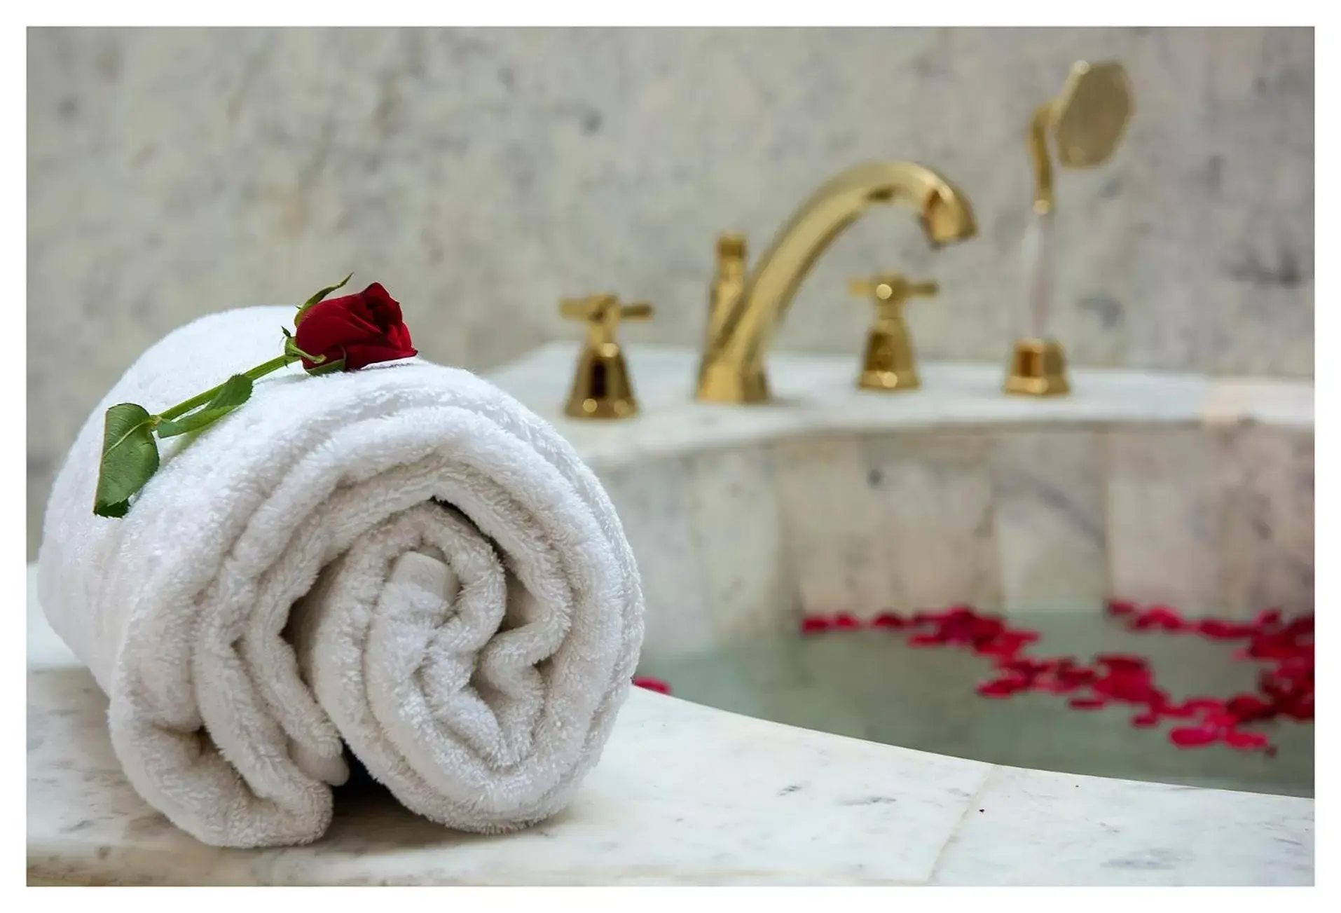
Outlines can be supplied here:
<path id="1" fill-rule="evenodd" d="M 563 414 L 573 418 L 629 418 L 638 412 L 629 369 L 616 341 L 620 320 L 650 320 L 652 304 L 620 304 L 616 295 L 565 299 L 559 314 L 586 320 L 587 337 Z"/>

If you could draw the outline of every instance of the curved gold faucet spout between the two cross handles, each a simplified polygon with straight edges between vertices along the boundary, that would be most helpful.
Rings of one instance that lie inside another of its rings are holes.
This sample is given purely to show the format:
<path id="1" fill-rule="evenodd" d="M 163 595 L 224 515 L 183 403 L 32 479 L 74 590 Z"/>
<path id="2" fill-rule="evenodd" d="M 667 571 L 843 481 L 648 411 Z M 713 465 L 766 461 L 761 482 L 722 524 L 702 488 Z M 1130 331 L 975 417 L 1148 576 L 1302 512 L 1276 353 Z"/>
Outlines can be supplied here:
<path id="1" fill-rule="evenodd" d="M 801 204 L 752 273 L 746 271 L 746 239 L 720 236 L 699 400 L 767 402 L 764 354 L 797 288 L 842 229 L 876 202 L 916 209 L 933 248 L 978 232 L 963 190 L 929 168 L 892 161 L 857 165 L 821 186 Z"/>

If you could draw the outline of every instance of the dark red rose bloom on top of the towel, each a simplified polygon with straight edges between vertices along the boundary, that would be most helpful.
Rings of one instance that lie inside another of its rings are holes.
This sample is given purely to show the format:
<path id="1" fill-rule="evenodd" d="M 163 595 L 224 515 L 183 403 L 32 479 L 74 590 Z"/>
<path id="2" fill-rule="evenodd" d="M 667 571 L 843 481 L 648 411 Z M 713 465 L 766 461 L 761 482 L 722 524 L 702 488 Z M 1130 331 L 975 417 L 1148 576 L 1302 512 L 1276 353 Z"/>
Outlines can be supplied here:
<path id="1" fill-rule="evenodd" d="M 304 358 L 307 370 L 343 358 L 343 370 L 357 371 L 418 354 L 410 345 L 400 303 L 378 282 L 357 295 L 330 298 L 308 307 L 298 319 L 294 342 L 308 355 L 326 357 L 322 362 Z"/>

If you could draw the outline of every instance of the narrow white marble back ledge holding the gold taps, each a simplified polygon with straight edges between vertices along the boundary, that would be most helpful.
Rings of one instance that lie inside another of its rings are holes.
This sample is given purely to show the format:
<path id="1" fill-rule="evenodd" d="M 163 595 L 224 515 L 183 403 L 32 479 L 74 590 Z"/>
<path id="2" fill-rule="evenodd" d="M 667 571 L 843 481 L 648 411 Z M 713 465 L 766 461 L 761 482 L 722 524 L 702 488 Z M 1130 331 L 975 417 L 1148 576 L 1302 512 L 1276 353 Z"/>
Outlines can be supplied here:
<path id="1" fill-rule="evenodd" d="M 578 353 L 575 342 L 552 342 L 488 378 L 554 422 L 597 469 L 633 457 L 680 456 L 815 432 L 1124 422 L 1313 428 L 1309 381 L 1078 367 L 1071 370 L 1071 395 L 1034 400 L 1000 391 L 1002 366 L 928 362 L 919 367 L 923 389 L 882 394 L 854 386 L 856 357 L 786 351 L 768 357 L 775 402 L 721 406 L 693 400 L 695 350 L 641 345 L 625 346 L 641 414 L 597 422 L 562 412 Z"/>

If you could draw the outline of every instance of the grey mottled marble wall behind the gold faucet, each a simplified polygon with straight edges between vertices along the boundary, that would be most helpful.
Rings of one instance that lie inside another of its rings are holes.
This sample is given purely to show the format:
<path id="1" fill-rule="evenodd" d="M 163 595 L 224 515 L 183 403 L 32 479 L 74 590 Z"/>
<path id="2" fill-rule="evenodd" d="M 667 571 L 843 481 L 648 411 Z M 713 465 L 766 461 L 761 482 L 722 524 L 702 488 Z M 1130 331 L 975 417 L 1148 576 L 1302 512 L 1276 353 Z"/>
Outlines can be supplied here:
<path id="1" fill-rule="evenodd" d="M 1311 29 L 28 35 L 28 346 L 62 354 L 28 367 L 30 555 L 78 425 L 173 326 L 353 268 L 437 361 L 571 335 L 557 299 L 605 288 L 660 307 L 630 342 L 695 342 L 715 233 L 759 248 L 865 158 L 944 170 L 982 235 L 933 255 L 907 213 L 874 213 L 779 346 L 857 351 L 848 276 L 904 268 L 943 287 L 909 310 L 924 358 L 1000 359 L 1023 125 L 1077 58 L 1124 60 L 1137 101 L 1113 161 L 1059 185 L 1073 359 L 1313 373 Z"/>

